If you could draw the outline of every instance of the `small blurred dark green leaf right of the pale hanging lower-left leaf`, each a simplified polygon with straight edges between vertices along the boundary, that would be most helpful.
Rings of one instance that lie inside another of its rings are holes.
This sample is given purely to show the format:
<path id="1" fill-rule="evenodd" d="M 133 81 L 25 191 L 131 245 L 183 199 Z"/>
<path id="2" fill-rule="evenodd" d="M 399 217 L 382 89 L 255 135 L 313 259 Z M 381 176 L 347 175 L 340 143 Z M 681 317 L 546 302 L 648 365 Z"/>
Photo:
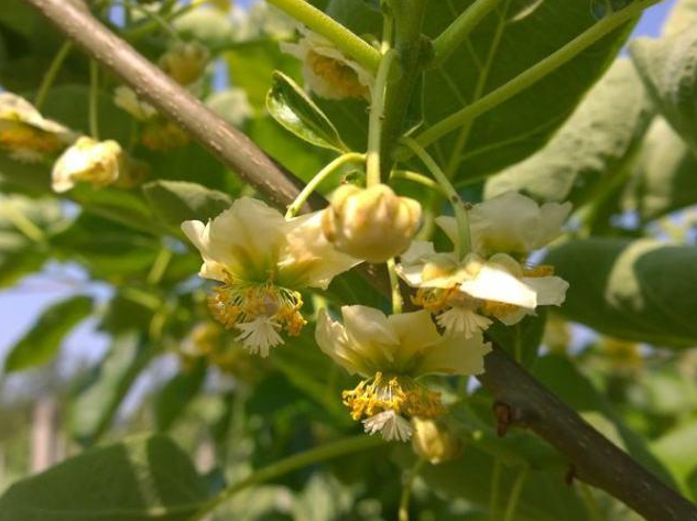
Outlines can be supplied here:
<path id="1" fill-rule="evenodd" d="M 200 390 L 208 366 L 204 359 L 193 367 L 182 369 L 155 395 L 155 425 L 157 431 L 168 431 Z"/>

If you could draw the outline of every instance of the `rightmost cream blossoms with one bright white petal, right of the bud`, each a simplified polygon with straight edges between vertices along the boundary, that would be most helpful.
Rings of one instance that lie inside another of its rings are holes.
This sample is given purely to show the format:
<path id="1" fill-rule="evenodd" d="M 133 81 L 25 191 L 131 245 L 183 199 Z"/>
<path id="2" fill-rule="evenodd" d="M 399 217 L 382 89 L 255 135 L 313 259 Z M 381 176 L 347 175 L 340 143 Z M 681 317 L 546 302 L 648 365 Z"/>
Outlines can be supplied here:
<path id="1" fill-rule="evenodd" d="M 526 259 L 562 234 L 570 209 L 569 203 L 537 206 L 508 192 L 469 211 L 472 251 L 464 259 L 414 241 L 397 273 L 417 290 L 414 303 L 433 313 L 448 334 L 469 338 L 492 319 L 516 324 L 537 306 L 564 302 L 568 283 L 554 276 L 552 267 L 531 267 Z M 455 219 L 436 221 L 455 242 Z"/>

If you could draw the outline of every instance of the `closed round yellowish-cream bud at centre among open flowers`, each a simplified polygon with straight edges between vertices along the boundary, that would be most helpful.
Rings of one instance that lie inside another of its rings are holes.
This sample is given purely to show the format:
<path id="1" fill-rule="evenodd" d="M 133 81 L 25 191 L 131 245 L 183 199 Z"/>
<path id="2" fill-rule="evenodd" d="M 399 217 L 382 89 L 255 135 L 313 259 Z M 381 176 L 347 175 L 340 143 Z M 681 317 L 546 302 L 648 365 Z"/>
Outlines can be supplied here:
<path id="1" fill-rule="evenodd" d="M 400 197 L 386 185 L 339 187 L 324 211 L 327 240 L 345 253 L 385 262 L 409 248 L 421 222 L 421 205 Z"/>

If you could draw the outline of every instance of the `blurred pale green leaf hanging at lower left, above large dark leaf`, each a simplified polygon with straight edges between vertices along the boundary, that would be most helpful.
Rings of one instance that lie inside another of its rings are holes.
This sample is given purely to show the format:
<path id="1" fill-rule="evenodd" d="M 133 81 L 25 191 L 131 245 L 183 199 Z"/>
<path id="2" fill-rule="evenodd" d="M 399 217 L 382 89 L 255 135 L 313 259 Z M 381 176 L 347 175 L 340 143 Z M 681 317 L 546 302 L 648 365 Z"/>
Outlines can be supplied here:
<path id="1" fill-rule="evenodd" d="M 88 380 L 77 389 L 69 410 L 72 435 L 96 443 L 111 424 L 121 401 L 153 356 L 135 333 L 121 333 Z"/>

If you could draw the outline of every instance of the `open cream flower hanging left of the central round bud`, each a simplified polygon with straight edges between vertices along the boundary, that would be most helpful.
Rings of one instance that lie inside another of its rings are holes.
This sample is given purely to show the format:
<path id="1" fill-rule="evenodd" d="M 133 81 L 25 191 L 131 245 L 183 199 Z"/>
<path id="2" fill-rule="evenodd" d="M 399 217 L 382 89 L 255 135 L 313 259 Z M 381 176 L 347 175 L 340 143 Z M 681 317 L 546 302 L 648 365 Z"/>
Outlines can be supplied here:
<path id="1" fill-rule="evenodd" d="M 324 238 L 319 213 L 286 221 L 264 203 L 242 197 L 203 224 L 187 220 L 182 230 L 200 252 L 200 276 L 221 282 L 208 304 L 226 327 L 262 356 L 282 344 L 279 332 L 297 335 L 305 325 L 297 290 L 326 289 L 331 279 L 359 261 Z"/>

